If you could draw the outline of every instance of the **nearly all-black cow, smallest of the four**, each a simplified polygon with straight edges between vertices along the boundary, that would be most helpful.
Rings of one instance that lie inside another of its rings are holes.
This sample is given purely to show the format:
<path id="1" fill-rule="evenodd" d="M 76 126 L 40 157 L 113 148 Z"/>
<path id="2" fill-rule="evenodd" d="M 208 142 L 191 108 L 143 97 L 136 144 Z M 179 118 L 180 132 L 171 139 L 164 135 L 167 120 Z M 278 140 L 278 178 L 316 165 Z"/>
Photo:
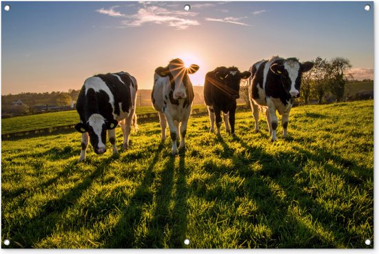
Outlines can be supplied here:
<path id="1" fill-rule="evenodd" d="M 217 135 L 220 135 L 221 112 L 223 112 L 226 131 L 235 136 L 236 99 L 240 98 L 240 80 L 251 75 L 251 72 L 241 73 L 237 67 L 217 67 L 205 75 L 204 100 L 209 112 L 211 132 L 214 131 L 216 115 Z M 228 121 L 232 131 L 229 129 Z"/>

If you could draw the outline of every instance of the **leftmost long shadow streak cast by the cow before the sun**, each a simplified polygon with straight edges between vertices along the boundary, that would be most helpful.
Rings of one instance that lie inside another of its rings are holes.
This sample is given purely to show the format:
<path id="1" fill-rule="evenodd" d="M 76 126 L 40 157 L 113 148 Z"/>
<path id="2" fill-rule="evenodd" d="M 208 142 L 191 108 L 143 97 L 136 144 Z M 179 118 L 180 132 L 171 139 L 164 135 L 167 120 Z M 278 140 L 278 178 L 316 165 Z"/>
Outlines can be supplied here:
<path id="1" fill-rule="evenodd" d="M 103 242 L 104 248 L 151 248 L 151 243 L 136 241 L 137 238 L 143 235 L 143 232 L 138 232 L 137 229 L 143 222 L 143 209 L 149 207 L 153 202 L 153 193 L 150 187 L 154 181 L 154 166 L 161 157 L 164 142 L 156 149 L 155 154 L 150 162 L 149 167 L 145 171 L 145 176 L 141 181 L 140 186 L 130 198 L 127 207 L 122 209 L 121 218 L 114 226 L 112 231 L 100 237 L 97 242 Z M 170 173 L 169 173 L 170 178 Z M 142 230 L 142 229 L 141 229 Z"/>

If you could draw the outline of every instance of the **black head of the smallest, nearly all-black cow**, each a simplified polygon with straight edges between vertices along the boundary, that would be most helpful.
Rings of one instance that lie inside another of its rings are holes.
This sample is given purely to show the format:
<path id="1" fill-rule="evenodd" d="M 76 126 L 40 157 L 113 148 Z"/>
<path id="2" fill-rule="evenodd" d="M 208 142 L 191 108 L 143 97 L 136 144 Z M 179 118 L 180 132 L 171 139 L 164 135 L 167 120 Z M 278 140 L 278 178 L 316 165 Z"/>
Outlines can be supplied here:
<path id="1" fill-rule="evenodd" d="M 220 87 L 232 98 L 240 98 L 240 80 L 252 76 L 251 72 L 240 72 L 237 67 L 218 67 L 214 70 L 214 76 L 225 87 Z"/>

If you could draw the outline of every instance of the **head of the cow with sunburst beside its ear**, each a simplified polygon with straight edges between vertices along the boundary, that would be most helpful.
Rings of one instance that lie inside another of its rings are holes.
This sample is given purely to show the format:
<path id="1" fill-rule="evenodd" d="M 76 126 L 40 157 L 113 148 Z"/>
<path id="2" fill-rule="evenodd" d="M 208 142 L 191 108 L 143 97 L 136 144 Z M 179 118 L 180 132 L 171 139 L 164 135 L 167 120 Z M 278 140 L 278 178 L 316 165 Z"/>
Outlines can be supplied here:
<path id="1" fill-rule="evenodd" d="M 192 85 L 188 74 L 194 74 L 198 71 L 198 68 L 198 65 L 190 65 L 186 68 L 181 59 L 174 59 L 170 61 L 167 67 L 156 68 L 155 73 L 162 77 L 170 77 L 173 98 L 178 100 L 187 97 L 185 91 L 189 85 Z"/>

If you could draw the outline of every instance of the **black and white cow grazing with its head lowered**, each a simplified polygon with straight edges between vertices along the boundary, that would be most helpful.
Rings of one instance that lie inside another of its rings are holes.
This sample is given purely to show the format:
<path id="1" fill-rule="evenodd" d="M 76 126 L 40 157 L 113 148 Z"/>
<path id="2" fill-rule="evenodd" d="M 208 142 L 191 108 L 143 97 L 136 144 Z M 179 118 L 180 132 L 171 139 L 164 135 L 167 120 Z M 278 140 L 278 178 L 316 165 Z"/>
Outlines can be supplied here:
<path id="1" fill-rule="evenodd" d="M 76 102 L 80 123 L 75 129 L 81 132 L 81 156 L 85 160 L 88 138 L 96 154 L 106 151 L 108 131 L 113 154 L 117 154 L 114 128 L 121 125 L 123 149 L 129 146 L 129 134 L 136 105 L 137 82 L 126 72 L 99 74 L 87 78 Z"/>

